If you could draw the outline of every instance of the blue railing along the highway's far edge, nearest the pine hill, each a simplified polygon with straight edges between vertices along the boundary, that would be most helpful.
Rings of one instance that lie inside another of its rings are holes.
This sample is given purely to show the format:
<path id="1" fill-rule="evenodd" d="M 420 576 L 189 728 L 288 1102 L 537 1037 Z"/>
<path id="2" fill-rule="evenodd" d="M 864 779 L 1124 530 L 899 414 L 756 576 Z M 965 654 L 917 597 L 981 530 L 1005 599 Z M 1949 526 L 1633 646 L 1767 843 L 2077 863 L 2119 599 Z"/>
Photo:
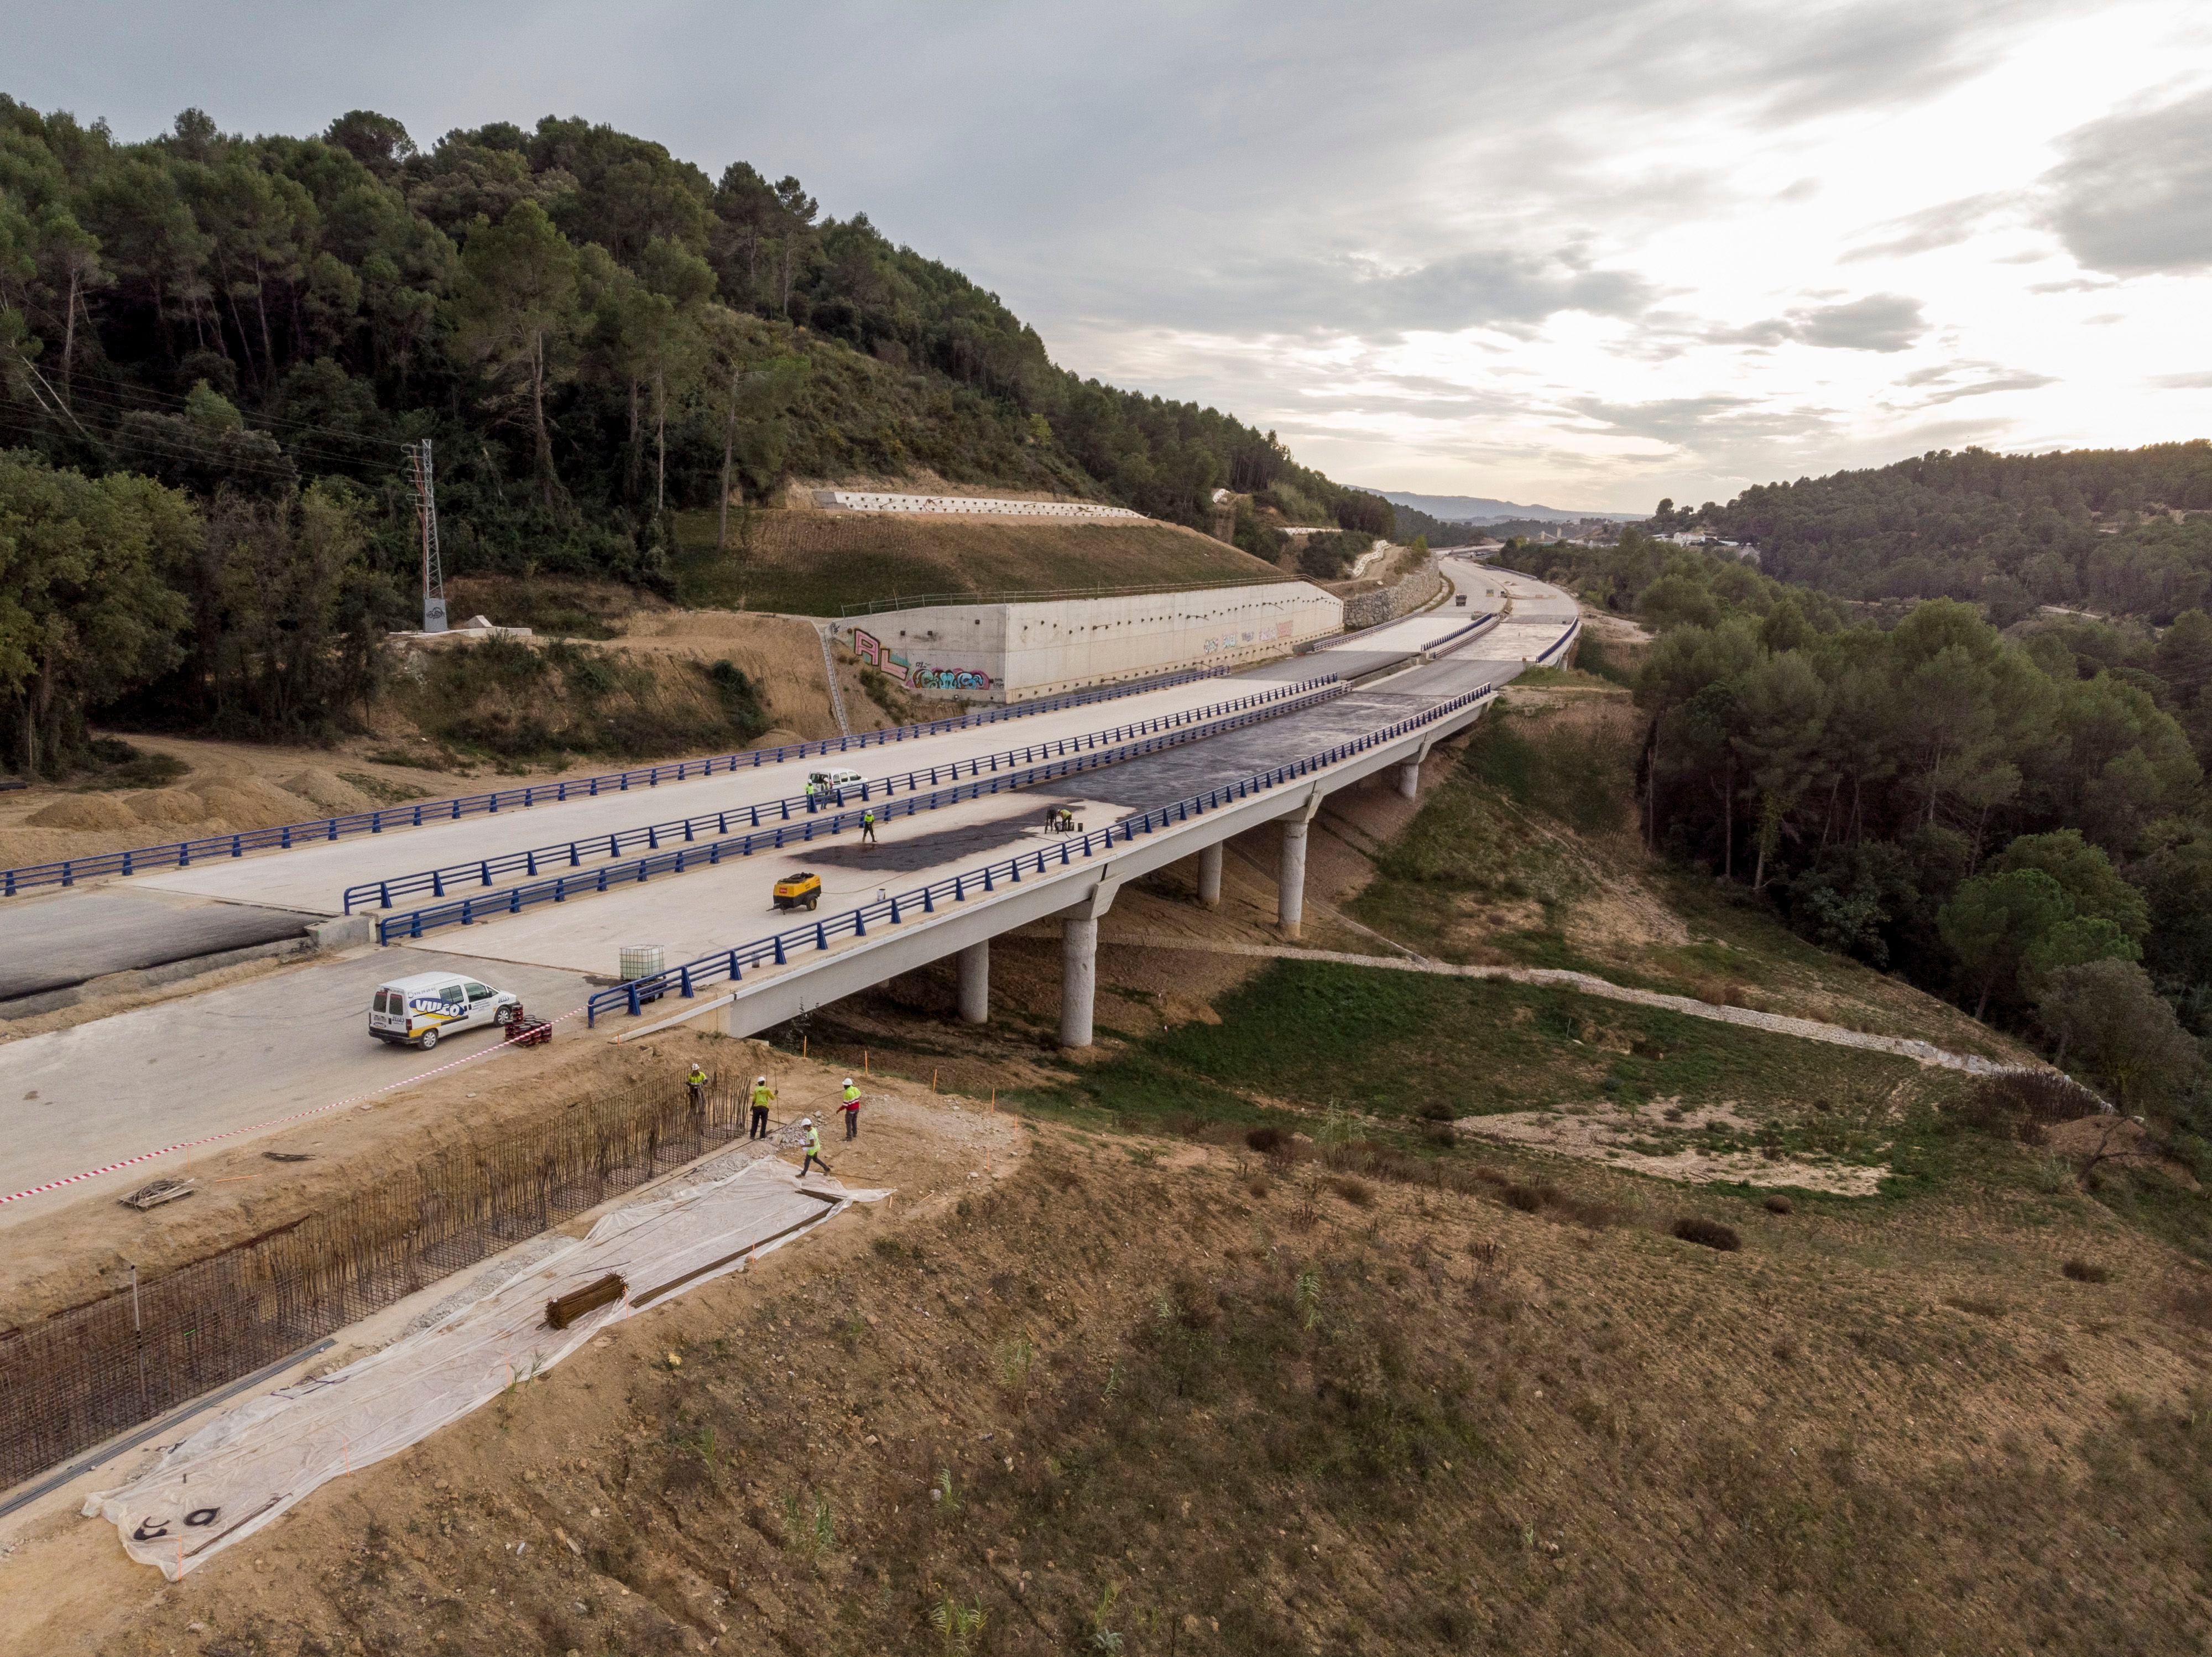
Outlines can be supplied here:
<path id="1" fill-rule="evenodd" d="M 606 772 L 602 777 L 573 777 L 562 783 L 531 783 L 526 788 L 502 788 L 487 794 L 460 794 L 458 799 L 422 801 L 418 805 L 387 805 L 376 812 L 347 812 L 343 816 L 319 816 L 307 823 L 283 823 L 265 830 L 243 830 L 239 834 L 208 834 L 197 841 L 168 841 L 164 845 L 139 845 L 126 852 L 95 852 L 93 856 L 64 858 L 60 863 L 31 863 L 20 869 L 0 869 L 0 898 L 18 892 L 91 880 L 102 874 L 144 874 L 148 869 L 184 869 L 208 858 L 237 858 L 248 852 L 288 852 L 294 845 L 341 841 L 352 834 L 383 834 L 385 830 L 422 827 L 425 823 L 453 823 L 462 816 L 484 812 L 529 810 L 571 799 L 597 799 L 599 794 L 622 794 L 633 788 L 659 788 L 681 783 L 692 777 L 714 777 L 717 772 L 745 770 L 754 765 L 781 765 L 792 759 L 814 759 L 816 754 L 847 754 L 860 748 L 883 748 L 894 741 L 936 737 L 945 730 L 969 726 L 993 726 L 1000 719 L 1026 719 L 1029 715 L 1077 708 L 1088 701 L 1113 701 L 1137 697 L 1146 690 L 1164 690 L 1192 679 L 1214 679 L 1230 668 L 1190 668 L 1166 673 L 1155 679 L 1139 679 L 1126 686 L 1099 686 L 1095 690 L 1068 690 L 1057 697 L 1040 697 L 1006 708 L 980 708 L 975 712 L 931 719 L 922 726 L 894 726 L 891 730 L 863 730 L 852 737 L 825 737 L 818 741 L 785 743 L 783 748 L 748 748 L 734 754 L 710 754 L 706 759 L 679 759 L 666 765 L 644 765 L 639 770 Z"/>

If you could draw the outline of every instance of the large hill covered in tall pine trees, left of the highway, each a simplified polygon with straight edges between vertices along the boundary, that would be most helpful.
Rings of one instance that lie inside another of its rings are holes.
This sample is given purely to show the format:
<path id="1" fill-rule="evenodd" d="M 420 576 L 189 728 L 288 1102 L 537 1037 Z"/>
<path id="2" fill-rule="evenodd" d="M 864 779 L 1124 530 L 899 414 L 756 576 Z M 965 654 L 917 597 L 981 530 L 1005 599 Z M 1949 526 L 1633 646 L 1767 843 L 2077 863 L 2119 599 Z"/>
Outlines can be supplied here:
<path id="1" fill-rule="evenodd" d="M 456 575 L 666 586 L 675 511 L 936 473 L 1206 527 L 1389 533 L 1274 434 L 1060 369 L 960 272 L 584 119 L 418 146 L 201 111 L 142 144 L 0 97 L 0 752 L 135 697 L 312 734 L 407 626 L 429 438 Z"/>

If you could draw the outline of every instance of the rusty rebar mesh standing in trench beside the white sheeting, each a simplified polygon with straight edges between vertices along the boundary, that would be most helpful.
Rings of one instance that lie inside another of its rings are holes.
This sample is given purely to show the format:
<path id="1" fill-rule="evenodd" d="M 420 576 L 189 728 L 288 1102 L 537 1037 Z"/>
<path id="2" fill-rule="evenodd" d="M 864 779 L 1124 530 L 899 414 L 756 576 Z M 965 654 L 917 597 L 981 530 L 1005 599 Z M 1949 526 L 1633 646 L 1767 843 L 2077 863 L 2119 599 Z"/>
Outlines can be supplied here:
<path id="1" fill-rule="evenodd" d="M 0 1334 L 0 1491 L 745 1130 L 750 1077 L 639 1084 L 449 1146 L 296 1223 Z M 166 1210 L 175 1212 L 175 1210 Z"/>

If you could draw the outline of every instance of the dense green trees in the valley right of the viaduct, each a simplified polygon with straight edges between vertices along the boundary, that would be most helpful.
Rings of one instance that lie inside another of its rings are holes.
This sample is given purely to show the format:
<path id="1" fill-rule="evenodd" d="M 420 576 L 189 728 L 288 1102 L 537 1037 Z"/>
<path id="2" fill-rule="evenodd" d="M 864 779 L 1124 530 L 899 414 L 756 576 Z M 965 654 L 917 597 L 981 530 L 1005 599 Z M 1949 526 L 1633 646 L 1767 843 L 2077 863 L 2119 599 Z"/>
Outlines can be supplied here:
<path id="1" fill-rule="evenodd" d="M 1652 852 L 2042 1038 L 2212 1177 L 2212 617 L 1865 617 L 1635 527 L 1502 562 L 1657 633 L 1582 646 L 1635 686 Z"/>

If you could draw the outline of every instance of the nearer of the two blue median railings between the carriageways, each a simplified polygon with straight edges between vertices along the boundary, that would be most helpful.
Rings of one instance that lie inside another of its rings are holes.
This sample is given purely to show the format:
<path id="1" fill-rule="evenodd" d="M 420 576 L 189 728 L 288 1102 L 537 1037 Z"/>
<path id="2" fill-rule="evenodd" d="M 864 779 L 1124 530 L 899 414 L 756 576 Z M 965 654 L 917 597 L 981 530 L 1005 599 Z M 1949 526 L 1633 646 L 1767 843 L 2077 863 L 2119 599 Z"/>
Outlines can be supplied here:
<path id="1" fill-rule="evenodd" d="M 1013 792 L 1033 783 L 1051 781 L 1053 777 L 1075 777 L 1086 770 L 1117 765 L 1124 759 L 1157 754 L 1164 748 L 1179 748 L 1190 741 L 1203 741 L 1228 730 L 1241 730 L 1243 726 L 1256 726 L 1265 719 L 1276 719 L 1287 712 L 1321 706 L 1323 701 L 1334 701 L 1336 697 L 1347 695 L 1349 688 L 1352 686 L 1332 677 L 1314 688 L 1307 688 L 1301 697 L 1287 701 L 1270 699 L 1270 706 L 1265 708 L 1214 719 L 1206 726 L 1183 726 L 1161 737 L 1121 743 L 1119 748 L 1088 750 L 1075 759 L 1057 759 L 1051 763 L 1029 765 L 1024 770 L 1006 770 L 1002 774 L 989 774 L 956 788 L 938 788 L 929 794 L 907 794 L 902 801 L 885 801 L 883 807 L 876 807 L 876 821 L 933 812 L 940 805 L 956 805 L 960 801 L 982 799 L 984 794 Z M 633 858 L 630 863 L 608 863 L 591 874 L 562 874 L 551 880 L 513 885 L 489 896 L 469 896 L 456 903 L 409 909 L 407 914 L 378 916 L 376 942 L 389 945 L 400 938 L 411 942 L 427 931 L 438 931 L 440 927 L 469 927 L 478 920 L 522 914 L 540 903 L 566 903 L 568 898 L 584 896 L 586 892 L 606 892 L 617 885 L 641 885 L 657 874 L 684 874 L 695 867 L 714 867 L 726 856 L 741 858 L 752 856 L 754 852 L 776 852 L 787 845 L 810 845 L 814 838 L 832 838 L 849 827 L 858 827 L 860 816 L 863 810 L 834 812 L 827 819 L 801 812 L 792 823 L 774 823 L 750 834 L 684 845 L 675 852 L 659 852 L 655 856 Z"/>

